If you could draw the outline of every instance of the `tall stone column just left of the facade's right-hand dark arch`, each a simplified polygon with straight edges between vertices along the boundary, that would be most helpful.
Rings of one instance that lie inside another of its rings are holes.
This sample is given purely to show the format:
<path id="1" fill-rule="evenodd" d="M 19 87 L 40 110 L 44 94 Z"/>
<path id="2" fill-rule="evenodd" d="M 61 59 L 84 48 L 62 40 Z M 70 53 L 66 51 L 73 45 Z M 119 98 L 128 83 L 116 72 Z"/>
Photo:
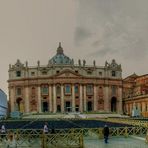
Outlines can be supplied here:
<path id="1" fill-rule="evenodd" d="M 109 90 L 108 86 L 104 87 L 104 110 L 109 112 Z"/>

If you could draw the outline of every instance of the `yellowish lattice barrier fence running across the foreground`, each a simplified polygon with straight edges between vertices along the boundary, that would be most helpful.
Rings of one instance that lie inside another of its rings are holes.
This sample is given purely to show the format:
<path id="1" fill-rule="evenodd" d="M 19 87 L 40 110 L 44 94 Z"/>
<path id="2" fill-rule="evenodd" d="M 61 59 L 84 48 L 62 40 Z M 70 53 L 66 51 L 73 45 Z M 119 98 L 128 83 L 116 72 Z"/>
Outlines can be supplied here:
<path id="1" fill-rule="evenodd" d="M 8 130 L 15 135 L 17 147 L 34 147 L 34 148 L 83 148 L 83 138 L 95 136 L 98 139 L 103 138 L 103 128 L 75 128 L 75 129 L 56 129 L 54 134 L 44 134 L 42 130 L 19 129 Z M 144 127 L 110 127 L 110 136 L 145 135 L 147 128 Z M 1 140 L 3 145 L 7 140 Z"/>

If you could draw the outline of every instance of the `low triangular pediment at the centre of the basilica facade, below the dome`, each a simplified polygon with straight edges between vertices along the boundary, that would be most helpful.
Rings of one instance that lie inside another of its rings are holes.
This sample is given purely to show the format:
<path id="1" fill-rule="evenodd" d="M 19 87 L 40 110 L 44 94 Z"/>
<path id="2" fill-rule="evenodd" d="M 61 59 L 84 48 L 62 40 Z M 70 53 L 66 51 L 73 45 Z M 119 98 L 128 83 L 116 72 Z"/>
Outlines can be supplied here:
<path id="1" fill-rule="evenodd" d="M 64 71 L 61 71 L 60 73 L 56 74 L 55 75 L 56 77 L 58 78 L 78 78 L 78 77 L 82 77 L 80 74 L 78 73 L 75 73 L 73 71 L 70 71 L 70 70 L 64 70 Z"/>

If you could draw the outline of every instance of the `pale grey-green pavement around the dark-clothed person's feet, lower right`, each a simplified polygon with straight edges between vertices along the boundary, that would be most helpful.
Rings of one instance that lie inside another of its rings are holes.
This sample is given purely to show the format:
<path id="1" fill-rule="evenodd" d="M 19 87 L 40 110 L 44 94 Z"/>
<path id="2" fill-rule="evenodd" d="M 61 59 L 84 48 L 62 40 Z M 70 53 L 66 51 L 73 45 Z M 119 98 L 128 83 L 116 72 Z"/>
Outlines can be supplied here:
<path id="1" fill-rule="evenodd" d="M 103 139 L 86 137 L 84 144 L 85 148 L 148 148 L 148 144 L 144 140 L 132 137 L 112 137 L 107 144 L 104 143 Z"/>

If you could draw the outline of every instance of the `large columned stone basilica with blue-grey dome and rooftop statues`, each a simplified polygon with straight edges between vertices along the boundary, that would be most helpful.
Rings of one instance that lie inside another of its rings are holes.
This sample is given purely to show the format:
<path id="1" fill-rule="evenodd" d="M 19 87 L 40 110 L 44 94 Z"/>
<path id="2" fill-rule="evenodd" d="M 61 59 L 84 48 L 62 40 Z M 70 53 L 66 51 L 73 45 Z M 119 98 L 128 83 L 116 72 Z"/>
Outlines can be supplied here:
<path id="1" fill-rule="evenodd" d="M 9 66 L 10 111 L 122 112 L 122 70 L 115 60 L 104 66 L 67 57 L 61 44 L 45 66 Z"/>

